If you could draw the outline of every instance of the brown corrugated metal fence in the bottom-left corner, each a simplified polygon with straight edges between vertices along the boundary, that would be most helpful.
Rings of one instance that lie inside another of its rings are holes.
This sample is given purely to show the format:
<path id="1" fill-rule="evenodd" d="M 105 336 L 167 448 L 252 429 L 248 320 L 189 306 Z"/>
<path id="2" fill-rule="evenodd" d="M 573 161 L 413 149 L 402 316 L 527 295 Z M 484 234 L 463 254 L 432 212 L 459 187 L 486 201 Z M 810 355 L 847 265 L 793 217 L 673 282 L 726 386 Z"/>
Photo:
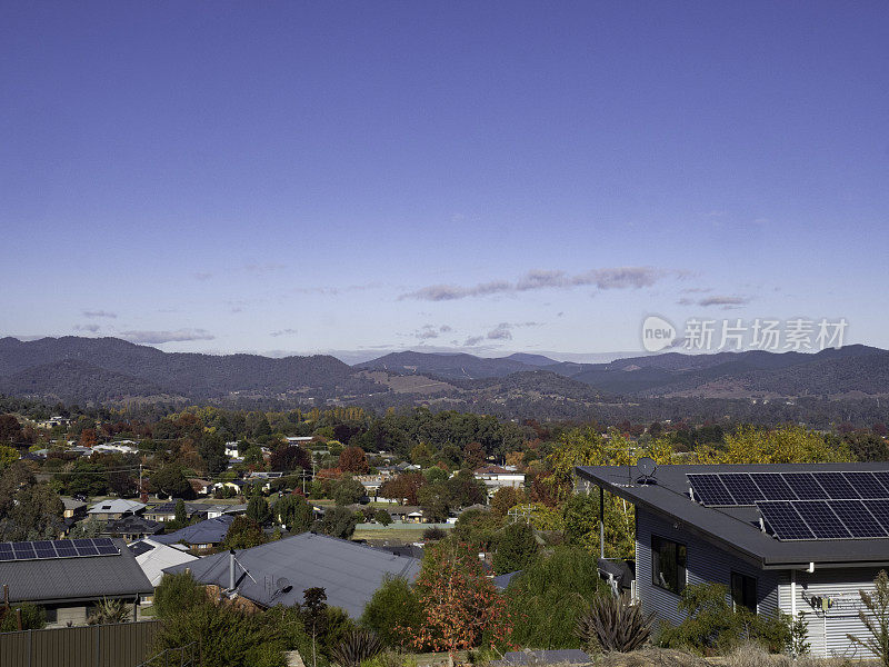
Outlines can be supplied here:
<path id="1" fill-rule="evenodd" d="M 0 634 L 2 667 L 136 667 L 151 657 L 160 621 Z"/>

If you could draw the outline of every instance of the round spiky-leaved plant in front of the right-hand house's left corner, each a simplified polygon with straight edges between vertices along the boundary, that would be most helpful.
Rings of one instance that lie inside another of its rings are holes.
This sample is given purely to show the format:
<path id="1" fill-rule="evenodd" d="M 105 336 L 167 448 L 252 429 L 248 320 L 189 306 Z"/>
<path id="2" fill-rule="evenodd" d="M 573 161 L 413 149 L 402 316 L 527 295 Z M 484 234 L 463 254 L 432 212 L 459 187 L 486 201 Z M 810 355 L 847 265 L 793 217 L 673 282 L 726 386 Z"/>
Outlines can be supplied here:
<path id="1" fill-rule="evenodd" d="M 577 635 L 585 645 L 598 645 L 606 653 L 629 653 L 649 638 L 652 618 L 629 596 L 600 595 L 578 618 Z"/>

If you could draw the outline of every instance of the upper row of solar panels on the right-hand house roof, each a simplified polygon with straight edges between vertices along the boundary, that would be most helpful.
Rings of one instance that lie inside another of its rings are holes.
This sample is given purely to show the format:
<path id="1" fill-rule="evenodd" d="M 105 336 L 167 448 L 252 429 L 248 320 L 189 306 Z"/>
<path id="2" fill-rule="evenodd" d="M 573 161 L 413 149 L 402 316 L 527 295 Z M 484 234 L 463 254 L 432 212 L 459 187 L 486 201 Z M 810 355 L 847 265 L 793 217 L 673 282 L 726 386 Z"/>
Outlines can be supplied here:
<path id="1" fill-rule="evenodd" d="M 695 499 L 708 507 L 753 506 L 773 500 L 889 498 L 889 470 L 689 474 L 688 480 Z"/>

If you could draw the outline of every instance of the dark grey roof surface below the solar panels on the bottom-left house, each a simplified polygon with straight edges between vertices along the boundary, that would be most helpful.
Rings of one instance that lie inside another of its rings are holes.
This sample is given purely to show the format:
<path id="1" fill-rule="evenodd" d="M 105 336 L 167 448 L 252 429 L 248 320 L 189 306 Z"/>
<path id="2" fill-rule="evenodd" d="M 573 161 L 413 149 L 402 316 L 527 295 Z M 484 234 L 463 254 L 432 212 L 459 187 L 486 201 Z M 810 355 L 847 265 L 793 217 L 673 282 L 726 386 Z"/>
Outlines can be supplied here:
<path id="1" fill-rule="evenodd" d="M 120 556 L 0 561 L 0 586 L 13 603 L 97 599 L 151 593 L 153 587 L 121 539 Z"/>

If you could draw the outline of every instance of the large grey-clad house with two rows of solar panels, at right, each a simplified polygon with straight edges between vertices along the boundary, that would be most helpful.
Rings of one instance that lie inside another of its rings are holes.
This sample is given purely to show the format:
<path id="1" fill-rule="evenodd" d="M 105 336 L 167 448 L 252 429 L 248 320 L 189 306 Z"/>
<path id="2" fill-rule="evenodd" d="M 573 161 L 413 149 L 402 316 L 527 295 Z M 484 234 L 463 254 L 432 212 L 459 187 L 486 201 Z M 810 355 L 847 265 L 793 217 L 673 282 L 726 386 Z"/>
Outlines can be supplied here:
<path id="1" fill-rule="evenodd" d="M 859 590 L 889 571 L 889 465 L 581 466 L 578 486 L 635 506 L 631 594 L 679 624 L 690 584 L 726 586 L 735 606 L 808 621 L 813 655 L 867 657 Z M 613 576 L 615 561 L 600 571 Z M 858 654 L 856 654 L 856 650 Z"/>

